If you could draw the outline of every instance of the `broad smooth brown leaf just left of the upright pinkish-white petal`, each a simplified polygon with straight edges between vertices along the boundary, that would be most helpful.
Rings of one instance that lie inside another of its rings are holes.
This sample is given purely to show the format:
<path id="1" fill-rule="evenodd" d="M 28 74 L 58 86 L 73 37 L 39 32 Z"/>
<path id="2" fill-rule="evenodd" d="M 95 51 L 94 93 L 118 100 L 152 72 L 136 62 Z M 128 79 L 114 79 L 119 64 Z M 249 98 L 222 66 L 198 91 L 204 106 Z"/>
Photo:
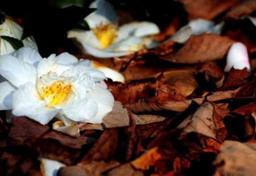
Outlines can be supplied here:
<path id="1" fill-rule="evenodd" d="M 192 35 L 177 52 L 160 57 L 175 63 L 201 63 L 222 59 L 235 41 L 213 34 Z"/>

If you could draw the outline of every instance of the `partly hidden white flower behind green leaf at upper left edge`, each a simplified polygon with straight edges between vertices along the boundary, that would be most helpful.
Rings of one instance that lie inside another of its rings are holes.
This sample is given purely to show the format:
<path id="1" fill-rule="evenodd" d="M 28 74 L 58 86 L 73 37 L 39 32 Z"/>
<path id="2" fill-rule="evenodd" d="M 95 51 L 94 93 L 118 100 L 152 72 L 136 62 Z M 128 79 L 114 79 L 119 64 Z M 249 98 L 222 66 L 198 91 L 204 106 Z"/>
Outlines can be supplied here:
<path id="1" fill-rule="evenodd" d="M 20 40 L 22 36 L 23 28 L 9 16 L 5 16 L 5 22 L 0 25 L 0 38 L 1 36 L 9 36 Z M 32 36 L 25 38 L 23 41 L 24 46 L 38 50 L 38 46 Z M 9 54 L 15 51 L 13 46 L 6 40 L 1 38 L 0 40 L 0 55 Z"/>

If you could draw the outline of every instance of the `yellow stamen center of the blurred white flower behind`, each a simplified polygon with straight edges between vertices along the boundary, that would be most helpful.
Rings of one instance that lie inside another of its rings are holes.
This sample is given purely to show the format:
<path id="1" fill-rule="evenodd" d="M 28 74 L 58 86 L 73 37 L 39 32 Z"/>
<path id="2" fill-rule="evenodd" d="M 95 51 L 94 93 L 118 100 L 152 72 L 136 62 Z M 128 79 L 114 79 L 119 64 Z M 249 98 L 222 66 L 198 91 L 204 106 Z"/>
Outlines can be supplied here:
<path id="1" fill-rule="evenodd" d="M 103 24 L 98 25 L 96 29 L 93 30 L 98 41 L 101 44 L 101 48 L 104 49 L 111 45 L 117 37 L 117 27 L 113 24 Z"/>

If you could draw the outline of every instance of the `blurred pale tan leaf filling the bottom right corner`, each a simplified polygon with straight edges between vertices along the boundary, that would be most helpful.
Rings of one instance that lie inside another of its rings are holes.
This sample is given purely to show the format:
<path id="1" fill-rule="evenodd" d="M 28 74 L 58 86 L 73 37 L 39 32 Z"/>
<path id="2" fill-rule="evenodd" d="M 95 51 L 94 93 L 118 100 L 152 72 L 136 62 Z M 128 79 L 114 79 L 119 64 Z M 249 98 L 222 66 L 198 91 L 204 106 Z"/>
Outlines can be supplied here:
<path id="1" fill-rule="evenodd" d="M 214 176 L 255 175 L 256 144 L 224 141 L 221 153 L 217 155 L 213 165 L 216 166 Z"/>

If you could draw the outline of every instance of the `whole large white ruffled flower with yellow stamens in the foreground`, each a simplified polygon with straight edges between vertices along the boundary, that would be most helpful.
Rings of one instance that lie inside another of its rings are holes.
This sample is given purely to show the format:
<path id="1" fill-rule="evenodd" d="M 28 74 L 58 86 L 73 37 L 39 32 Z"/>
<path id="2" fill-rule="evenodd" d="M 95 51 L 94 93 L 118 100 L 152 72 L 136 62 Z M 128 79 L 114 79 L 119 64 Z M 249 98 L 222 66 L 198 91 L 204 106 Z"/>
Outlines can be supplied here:
<path id="1" fill-rule="evenodd" d="M 42 58 L 34 49 L 20 48 L 1 55 L 0 74 L 7 80 L 0 83 L 0 110 L 42 125 L 53 117 L 66 124 L 101 123 L 114 105 L 112 93 L 98 86 L 103 72 L 68 53 Z"/>

